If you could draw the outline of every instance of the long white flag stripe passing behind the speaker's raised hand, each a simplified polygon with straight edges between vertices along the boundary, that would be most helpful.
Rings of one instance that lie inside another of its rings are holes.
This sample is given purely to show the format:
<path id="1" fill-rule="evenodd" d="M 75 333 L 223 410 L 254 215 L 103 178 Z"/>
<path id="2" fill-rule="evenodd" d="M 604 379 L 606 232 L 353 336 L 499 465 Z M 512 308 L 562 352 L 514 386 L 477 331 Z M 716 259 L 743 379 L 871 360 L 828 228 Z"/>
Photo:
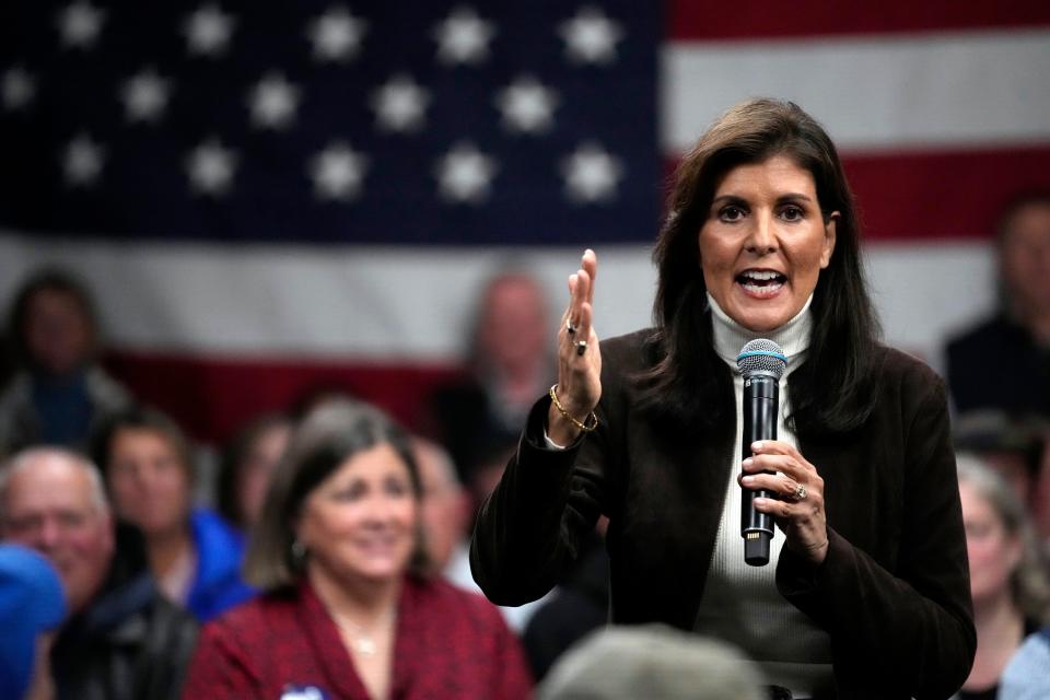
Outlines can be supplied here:
<path id="1" fill-rule="evenodd" d="M 0 235 L 0 299 L 26 270 L 61 264 L 95 293 L 124 349 L 237 358 L 455 362 L 481 285 L 509 260 L 548 290 L 551 338 L 581 252 L 311 248 L 56 242 Z M 513 255 L 513 258 L 511 256 Z M 600 247 L 595 327 L 603 337 L 651 323 L 649 246 Z M 890 345 L 936 364 L 945 335 L 988 311 L 988 244 L 867 249 Z"/>

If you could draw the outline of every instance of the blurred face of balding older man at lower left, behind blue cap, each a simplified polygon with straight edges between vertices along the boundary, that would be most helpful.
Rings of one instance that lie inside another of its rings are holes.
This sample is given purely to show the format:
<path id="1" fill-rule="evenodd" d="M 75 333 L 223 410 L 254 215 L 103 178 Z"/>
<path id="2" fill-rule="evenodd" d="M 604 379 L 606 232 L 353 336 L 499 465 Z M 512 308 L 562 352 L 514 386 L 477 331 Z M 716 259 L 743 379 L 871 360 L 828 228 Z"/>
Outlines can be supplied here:
<path id="1" fill-rule="evenodd" d="M 50 559 L 72 612 L 98 593 L 114 553 L 113 520 L 84 469 L 66 457 L 40 457 L 0 493 L 3 537 Z"/>

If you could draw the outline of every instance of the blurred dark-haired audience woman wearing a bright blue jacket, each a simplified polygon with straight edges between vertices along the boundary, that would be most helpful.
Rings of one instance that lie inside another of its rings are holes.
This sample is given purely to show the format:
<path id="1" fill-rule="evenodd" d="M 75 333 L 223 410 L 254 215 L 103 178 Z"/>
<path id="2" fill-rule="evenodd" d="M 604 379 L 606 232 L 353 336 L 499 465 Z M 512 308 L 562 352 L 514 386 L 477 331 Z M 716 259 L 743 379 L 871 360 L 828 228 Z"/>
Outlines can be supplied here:
<path id="1" fill-rule="evenodd" d="M 95 440 L 117 516 L 142 530 L 161 591 L 207 621 L 253 595 L 241 578 L 244 538 L 214 512 L 192 508 L 189 443 L 166 416 L 131 408 Z"/>

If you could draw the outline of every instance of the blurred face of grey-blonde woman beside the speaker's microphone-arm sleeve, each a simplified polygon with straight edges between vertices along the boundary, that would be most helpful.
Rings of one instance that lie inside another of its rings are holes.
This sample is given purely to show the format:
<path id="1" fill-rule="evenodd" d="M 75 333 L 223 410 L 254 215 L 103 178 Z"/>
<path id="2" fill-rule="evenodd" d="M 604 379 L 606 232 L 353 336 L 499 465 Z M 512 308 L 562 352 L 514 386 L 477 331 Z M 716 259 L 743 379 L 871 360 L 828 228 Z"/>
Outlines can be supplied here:
<path id="1" fill-rule="evenodd" d="M 965 481 L 959 483 L 959 499 L 973 604 L 1010 595 L 1010 579 L 1020 561 L 1020 541 L 1006 532 L 995 509 Z"/>

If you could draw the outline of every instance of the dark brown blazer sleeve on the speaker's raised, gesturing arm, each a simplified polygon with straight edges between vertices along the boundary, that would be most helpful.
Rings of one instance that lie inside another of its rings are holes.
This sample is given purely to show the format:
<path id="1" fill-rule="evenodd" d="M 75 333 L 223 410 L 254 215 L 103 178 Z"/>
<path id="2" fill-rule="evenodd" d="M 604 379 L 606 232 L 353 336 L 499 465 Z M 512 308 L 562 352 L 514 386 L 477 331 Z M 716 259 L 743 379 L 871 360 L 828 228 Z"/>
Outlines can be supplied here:
<path id="1" fill-rule="evenodd" d="M 605 387 L 606 377 L 603 376 Z M 565 450 L 544 439 L 550 398 L 533 407 L 499 486 L 478 514 L 470 569 L 485 595 L 517 606 L 542 597 L 575 560 L 603 512 L 609 416 Z"/>

